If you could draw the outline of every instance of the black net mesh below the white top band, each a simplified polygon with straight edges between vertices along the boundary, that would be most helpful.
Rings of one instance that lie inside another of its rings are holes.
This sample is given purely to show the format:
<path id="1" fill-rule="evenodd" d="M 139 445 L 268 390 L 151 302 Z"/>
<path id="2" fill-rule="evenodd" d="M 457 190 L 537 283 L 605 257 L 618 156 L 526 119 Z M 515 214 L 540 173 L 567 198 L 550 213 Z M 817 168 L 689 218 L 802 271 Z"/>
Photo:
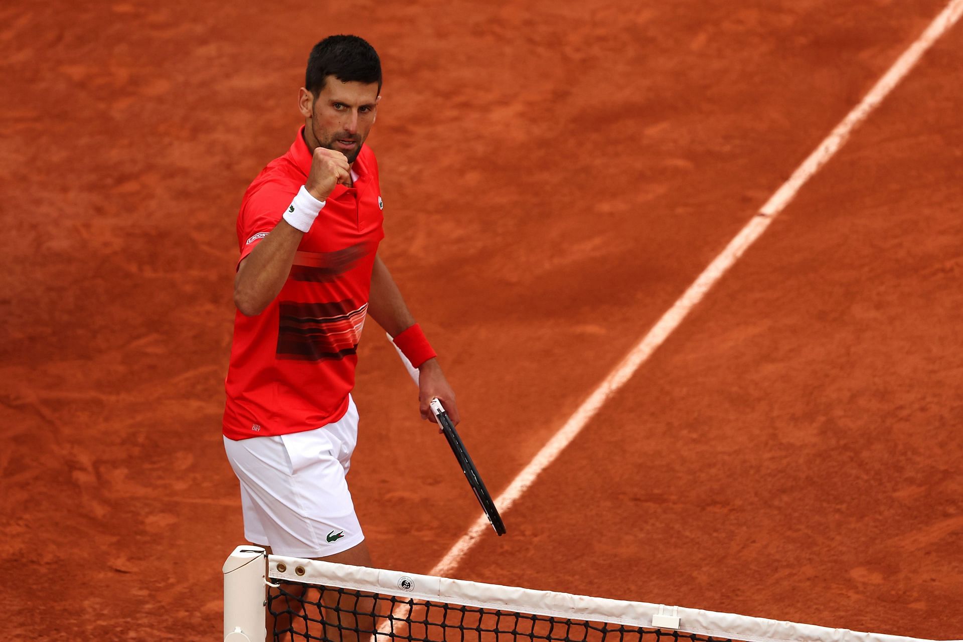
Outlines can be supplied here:
<path id="1" fill-rule="evenodd" d="M 268 637 L 275 642 L 721 642 L 726 639 L 672 629 L 627 627 L 425 602 L 291 581 L 281 581 L 280 588 L 269 591 L 268 611 L 272 616 L 268 620 Z M 373 635 L 377 636 L 374 640 Z"/>

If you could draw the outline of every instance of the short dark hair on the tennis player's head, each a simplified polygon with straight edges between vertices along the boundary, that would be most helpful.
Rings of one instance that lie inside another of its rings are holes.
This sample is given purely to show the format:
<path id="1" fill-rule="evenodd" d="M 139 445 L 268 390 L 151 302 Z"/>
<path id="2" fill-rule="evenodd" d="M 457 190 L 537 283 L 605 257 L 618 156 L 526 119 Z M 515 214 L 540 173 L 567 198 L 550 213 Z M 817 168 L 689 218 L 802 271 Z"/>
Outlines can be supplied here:
<path id="1" fill-rule="evenodd" d="M 317 95 L 325 78 L 343 83 L 376 83 L 381 92 L 381 61 L 375 47 L 357 36 L 328 36 L 311 49 L 304 73 L 304 89 Z"/>

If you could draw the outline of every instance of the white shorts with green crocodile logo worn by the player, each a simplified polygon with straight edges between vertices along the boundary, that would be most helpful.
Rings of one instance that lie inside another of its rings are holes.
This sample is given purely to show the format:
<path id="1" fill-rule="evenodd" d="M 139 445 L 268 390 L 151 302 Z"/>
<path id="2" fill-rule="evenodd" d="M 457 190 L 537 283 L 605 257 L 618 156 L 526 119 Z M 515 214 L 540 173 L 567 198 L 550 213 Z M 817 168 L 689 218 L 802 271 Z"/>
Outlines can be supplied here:
<path id="1" fill-rule="evenodd" d="M 357 429 L 349 396 L 348 411 L 334 424 L 277 437 L 224 437 L 241 480 L 248 541 L 279 555 L 326 557 L 364 540 L 345 479 Z"/>

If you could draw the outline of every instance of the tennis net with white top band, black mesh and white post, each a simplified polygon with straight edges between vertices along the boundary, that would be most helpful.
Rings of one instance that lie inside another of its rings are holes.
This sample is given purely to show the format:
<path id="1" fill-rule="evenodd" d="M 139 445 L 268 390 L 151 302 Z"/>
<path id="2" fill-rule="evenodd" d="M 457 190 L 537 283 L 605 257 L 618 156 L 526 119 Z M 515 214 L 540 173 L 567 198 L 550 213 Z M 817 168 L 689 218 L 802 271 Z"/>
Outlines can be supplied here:
<path id="1" fill-rule="evenodd" d="M 266 619 L 276 619 L 273 634 L 266 633 Z M 917 642 L 663 604 L 265 556 L 256 547 L 238 547 L 224 565 L 224 641 L 265 640 Z"/>

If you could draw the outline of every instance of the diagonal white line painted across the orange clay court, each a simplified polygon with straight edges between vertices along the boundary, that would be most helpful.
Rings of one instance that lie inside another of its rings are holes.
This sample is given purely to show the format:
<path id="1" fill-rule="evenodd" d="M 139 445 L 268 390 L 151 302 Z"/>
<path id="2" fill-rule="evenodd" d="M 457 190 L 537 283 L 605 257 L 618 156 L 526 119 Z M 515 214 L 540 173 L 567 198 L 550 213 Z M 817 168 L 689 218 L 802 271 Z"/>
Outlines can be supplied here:
<path id="1" fill-rule="evenodd" d="M 716 260 L 699 274 L 698 278 L 690 285 L 689 290 L 669 308 L 662 319 L 649 330 L 636 347 L 632 348 L 601 385 L 579 406 L 575 414 L 561 426 L 555 436 L 538 451 L 528 466 L 508 484 L 508 488 L 495 500 L 500 511 L 507 511 L 533 484 L 535 478 L 555 461 L 560 452 L 575 439 L 575 436 L 579 434 L 589 420 L 598 413 L 606 400 L 625 385 L 638 370 L 638 367 L 649 358 L 657 347 L 663 344 L 672 331 L 679 326 L 679 323 L 686 318 L 695 304 L 709 292 L 726 270 L 729 270 L 736 263 L 742 256 L 742 252 L 753 244 L 766 231 L 769 223 L 789 205 L 799 188 L 833 157 L 846 142 L 846 139 L 849 138 L 852 130 L 867 116 L 870 116 L 872 110 L 898 85 L 899 81 L 920 60 L 930 45 L 943 36 L 959 20 L 961 14 L 963 14 L 963 0 L 952 0 L 946 9 L 936 16 L 923 35 L 903 52 L 897 62 L 890 67 L 889 71 L 879 79 L 872 90 L 863 98 L 863 101 L 829 133 L 829 136 L 820 143 L 816 151 L 810 154 L 809 158 L 803 161 L 802 165 L 793 172 L 790 179 L 776 193 L 772 194 L 759 213 L 745 224 L 742 231 L 722 250 Z M 447 576 L 455 569 L 464 554 L 478 542 L 481 533 L 490 527 L 485 516 L 481 515 L 475 524 L 455 542 L 449 552 L 441 558 L 441 561 L 431 569 L 429 575 Z"/>

